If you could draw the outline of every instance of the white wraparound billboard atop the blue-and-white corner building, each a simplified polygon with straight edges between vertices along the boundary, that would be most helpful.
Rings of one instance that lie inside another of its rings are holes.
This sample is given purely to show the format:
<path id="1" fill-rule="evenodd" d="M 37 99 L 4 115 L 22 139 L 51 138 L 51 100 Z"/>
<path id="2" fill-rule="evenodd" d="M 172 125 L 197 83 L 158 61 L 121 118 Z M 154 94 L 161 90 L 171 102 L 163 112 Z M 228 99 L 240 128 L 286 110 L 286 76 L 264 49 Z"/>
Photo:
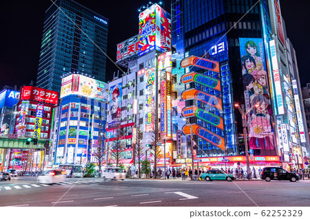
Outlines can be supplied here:
<path id="1" fill-rule="evenodd" d="M 78 74 L 72 74 L 61 80 L 61 98 L 72 94 L 98 100 L 107 98 L 105 82 Z"/>

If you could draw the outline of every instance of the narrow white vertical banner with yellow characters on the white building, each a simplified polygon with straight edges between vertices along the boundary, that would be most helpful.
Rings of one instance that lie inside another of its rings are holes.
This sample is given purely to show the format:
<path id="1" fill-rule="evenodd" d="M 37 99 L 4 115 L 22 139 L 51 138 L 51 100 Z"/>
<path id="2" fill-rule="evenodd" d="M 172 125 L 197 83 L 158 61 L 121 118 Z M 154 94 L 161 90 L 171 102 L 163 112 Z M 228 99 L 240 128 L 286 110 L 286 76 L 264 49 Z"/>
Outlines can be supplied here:
<path id="1" fill-rule="evenodd" d="M 145 132 L 154 129 L 154 72 L 155 68 L 147 69 L 145 76 L 147 78 L 145 87 Z"/>

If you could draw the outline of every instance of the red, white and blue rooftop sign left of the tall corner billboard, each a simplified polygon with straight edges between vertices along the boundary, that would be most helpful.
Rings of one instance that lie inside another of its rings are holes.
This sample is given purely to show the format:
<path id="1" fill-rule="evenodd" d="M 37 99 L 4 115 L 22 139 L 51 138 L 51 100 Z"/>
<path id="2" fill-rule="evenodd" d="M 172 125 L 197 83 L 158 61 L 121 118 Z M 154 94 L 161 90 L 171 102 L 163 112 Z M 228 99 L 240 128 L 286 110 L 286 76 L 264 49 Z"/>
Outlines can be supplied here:
<path id="1" fill-rule="evenodd" d="M 133 36 L 132 38 L 118 43 L 116 46 L 116 61 L 125 59 L 134 54 L 138 54 L 139 51 L 139 35 Z"/>

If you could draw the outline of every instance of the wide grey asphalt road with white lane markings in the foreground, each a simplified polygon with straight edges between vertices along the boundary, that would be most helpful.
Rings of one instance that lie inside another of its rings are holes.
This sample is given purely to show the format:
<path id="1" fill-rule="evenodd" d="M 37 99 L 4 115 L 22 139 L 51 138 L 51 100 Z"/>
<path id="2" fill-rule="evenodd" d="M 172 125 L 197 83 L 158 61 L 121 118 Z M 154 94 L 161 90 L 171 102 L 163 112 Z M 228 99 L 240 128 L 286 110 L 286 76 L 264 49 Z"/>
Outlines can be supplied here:
<path id="1" fill-rule="evenodd" d="M 76 181 L 79 181 L 75 184 Z M 68 178 L 41 185 L 34 177 L 0 182 L 0 206 L 310 206 L 310 181 L 103 181 Z"/>

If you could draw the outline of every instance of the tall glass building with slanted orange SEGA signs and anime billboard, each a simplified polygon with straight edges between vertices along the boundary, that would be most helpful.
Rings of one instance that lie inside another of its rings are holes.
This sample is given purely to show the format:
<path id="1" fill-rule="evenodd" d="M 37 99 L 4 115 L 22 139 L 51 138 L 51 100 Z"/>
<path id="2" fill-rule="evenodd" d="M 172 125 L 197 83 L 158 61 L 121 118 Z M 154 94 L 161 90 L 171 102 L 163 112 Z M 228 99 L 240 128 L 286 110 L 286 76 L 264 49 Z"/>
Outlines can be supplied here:
<path id="1" fill-rule="evenodd" d="M 193 153 L 220 167 L 231 156 L 229 165 L 245 165 L 238 104 L 248 112 L 250 163 L 302 167 L 307 139 L 298 131 L 291 82 L 297 77 L 290 76 L 285 40 L 279 0 L 172 0 L 172 74 L 179 82 L 172 122 L 187 135 L 187 146 L 192 126 L 196 150 L 184 158 Z"/>

